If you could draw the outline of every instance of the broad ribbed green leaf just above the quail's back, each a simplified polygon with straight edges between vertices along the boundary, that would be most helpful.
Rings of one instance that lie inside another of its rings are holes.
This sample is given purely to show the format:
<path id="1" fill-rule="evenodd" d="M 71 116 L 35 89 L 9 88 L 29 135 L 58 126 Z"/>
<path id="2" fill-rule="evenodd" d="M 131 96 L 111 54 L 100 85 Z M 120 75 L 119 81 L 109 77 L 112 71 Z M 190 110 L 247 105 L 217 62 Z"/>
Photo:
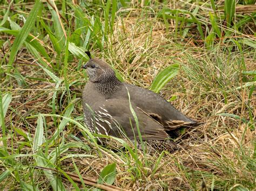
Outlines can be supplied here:
<path id="1" fill-rule="evenodd" d="M 165 86 L 165 84 L 168 83 L 174 76 L 176 76 L 178 72 L 178 63 L 174 63 L 173 65 L 163 69 L 157 74 L 150 89 L 154 91 L 154 93 L 159 93 L 159 91 Z"/>

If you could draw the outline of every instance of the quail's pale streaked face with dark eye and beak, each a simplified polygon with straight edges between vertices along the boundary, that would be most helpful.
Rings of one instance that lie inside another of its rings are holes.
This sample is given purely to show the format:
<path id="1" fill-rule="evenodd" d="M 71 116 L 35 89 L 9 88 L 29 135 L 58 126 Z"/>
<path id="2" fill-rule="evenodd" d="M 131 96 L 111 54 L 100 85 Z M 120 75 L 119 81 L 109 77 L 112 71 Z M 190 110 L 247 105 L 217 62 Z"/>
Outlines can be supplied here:
<path id="1" fill-rule="evenodd" d="M 91 82 L 97 82 L 104 73 L 104 68 L 97 63 L 97 60 L 90 59 L 82 68 L 86 69 L 87 75 Z"/>

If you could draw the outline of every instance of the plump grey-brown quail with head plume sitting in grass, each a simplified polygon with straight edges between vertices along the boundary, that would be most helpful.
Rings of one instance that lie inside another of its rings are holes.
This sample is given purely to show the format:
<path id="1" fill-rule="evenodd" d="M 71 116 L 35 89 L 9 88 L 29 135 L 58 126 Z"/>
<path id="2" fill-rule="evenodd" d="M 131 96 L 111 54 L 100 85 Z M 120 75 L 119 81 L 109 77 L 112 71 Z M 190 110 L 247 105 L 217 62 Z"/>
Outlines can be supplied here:
<path id="1" fill-rule="evenodd" d="M 89 81 L 83 93 L 85 124 L 93 133 L 143 140 L 158 150 L 176 144 L 172 133 L 184 126 L 196 126 L 197 122 L 186 117 L 159 94 L 151 90 L 121 82 L 112 67 L 99 58 L 89 56 L 82 68 Z"/>

